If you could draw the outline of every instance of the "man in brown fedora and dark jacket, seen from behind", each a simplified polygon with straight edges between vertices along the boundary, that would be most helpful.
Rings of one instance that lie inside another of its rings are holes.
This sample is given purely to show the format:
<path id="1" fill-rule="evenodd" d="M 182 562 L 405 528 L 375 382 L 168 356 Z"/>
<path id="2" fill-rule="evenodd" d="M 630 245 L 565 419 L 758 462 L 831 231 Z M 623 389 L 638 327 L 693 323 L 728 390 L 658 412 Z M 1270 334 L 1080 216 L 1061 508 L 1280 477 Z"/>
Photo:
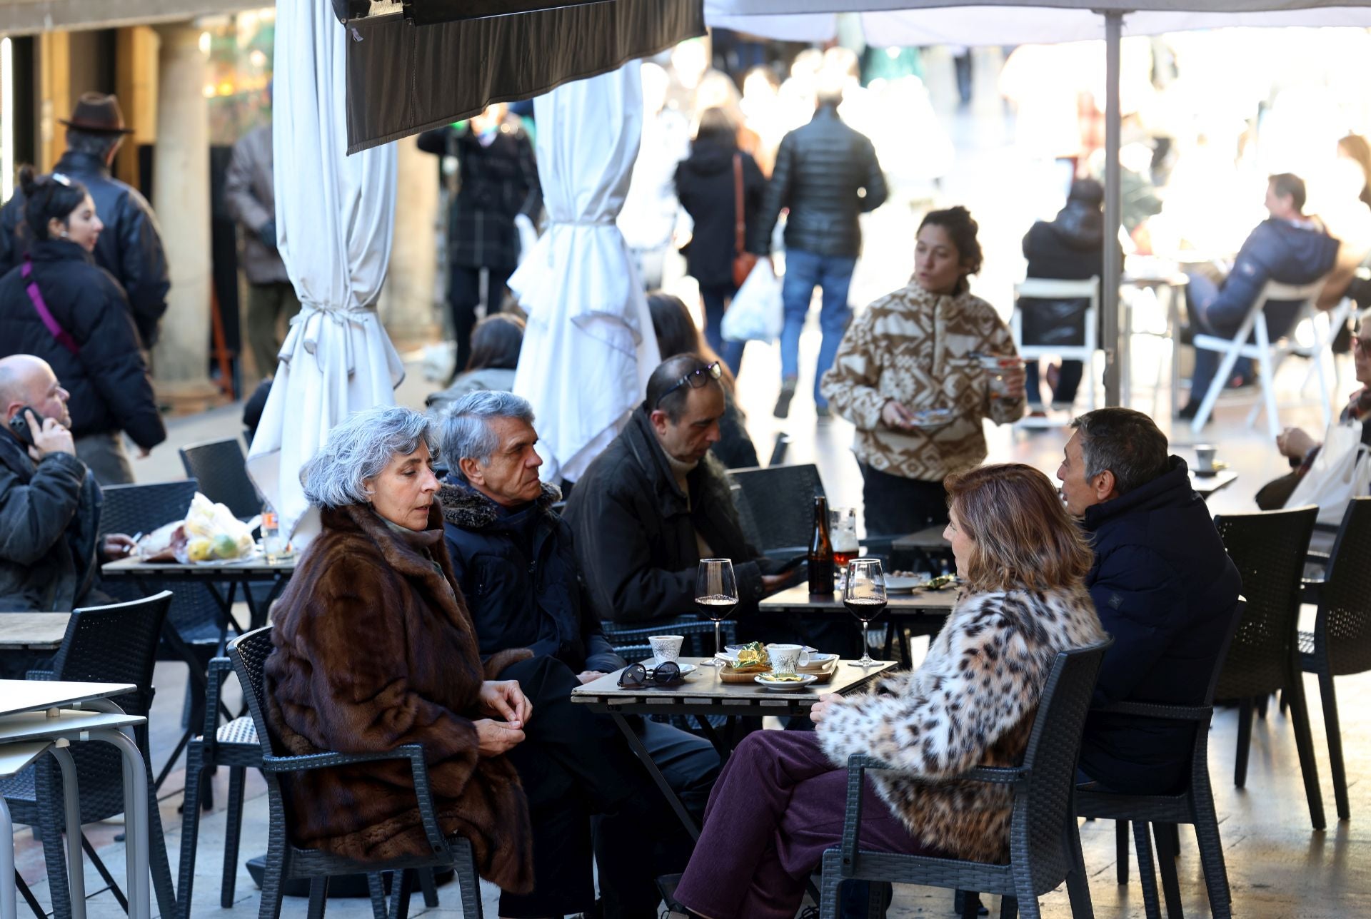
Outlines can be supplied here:
<path id="1" fill-rule="evenodd" d="M 119 100 L 103 93 L 84 93 L 71 118 L 62 123 L 67 126 L 67 149 L 53 171 L 90 192 L 106 227 L 95 247 L 95 262 L 123 285 L 143 347 L 152 348 L 171 288 L 162 234 L 147 199 L 110 174 L 114 155 L 133 131 L 123 125 Z M 15 189 L 0 210 L 0 274 L 23 259 L 27 240 L 22 223 L 23 194 Z"/>

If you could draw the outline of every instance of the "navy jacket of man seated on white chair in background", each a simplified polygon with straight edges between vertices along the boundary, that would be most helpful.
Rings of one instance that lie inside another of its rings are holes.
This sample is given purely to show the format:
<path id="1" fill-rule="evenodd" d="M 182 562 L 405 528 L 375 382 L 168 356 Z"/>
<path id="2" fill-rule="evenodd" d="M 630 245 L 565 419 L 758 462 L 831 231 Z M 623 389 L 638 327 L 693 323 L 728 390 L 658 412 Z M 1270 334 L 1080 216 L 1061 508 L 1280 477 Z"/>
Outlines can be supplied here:
<path id="1" fill-rule="evenodd" d="M 1215 329 L 1237 330 L 1267 281 L 1312 284 L 1333 270 L 1338 245 L 1323 230 L 1275 218 L 1263 221 L 1238 251 L 1219 296 L 1205 307 L 1205 319 Z"/>

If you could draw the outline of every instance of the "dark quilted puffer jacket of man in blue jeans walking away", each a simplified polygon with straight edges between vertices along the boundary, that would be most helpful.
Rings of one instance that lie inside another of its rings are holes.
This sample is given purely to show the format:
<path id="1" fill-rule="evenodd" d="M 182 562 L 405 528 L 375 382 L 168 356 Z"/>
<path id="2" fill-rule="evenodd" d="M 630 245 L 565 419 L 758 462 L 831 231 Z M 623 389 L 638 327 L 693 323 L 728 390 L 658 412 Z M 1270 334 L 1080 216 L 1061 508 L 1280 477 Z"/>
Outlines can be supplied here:
<path id="1" fill-rule="evenodd" d="M 886 194 L 876 148 L 845 125 L 835 107 L 824 105 L 813 121 L 781 138 L 762 199 L 757 251 L 766 255 L 780 211 L 788 207 L 787 248 L 857 257 L 861 255 L 857 218 L 884 204 Z"/>

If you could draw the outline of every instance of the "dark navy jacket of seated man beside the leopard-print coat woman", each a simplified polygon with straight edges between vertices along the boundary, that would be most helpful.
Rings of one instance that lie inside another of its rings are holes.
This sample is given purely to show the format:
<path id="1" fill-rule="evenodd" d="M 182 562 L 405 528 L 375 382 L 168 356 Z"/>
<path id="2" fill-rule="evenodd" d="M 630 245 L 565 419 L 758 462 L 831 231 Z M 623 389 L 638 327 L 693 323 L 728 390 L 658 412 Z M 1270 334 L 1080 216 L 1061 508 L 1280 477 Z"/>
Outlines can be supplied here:
<path id="1" fill-rule="evenodd" d="M 1086 586 L 1113 635 L 1095 705 L 1200 705 L 1238 603 L 1241 579 L 1186 463 L 1086 509 L 1095 563 Z M 1169 792 L 1189 777 L 1194 729 L 1091 714 L 1080 768 L 1119 792 Z"/>

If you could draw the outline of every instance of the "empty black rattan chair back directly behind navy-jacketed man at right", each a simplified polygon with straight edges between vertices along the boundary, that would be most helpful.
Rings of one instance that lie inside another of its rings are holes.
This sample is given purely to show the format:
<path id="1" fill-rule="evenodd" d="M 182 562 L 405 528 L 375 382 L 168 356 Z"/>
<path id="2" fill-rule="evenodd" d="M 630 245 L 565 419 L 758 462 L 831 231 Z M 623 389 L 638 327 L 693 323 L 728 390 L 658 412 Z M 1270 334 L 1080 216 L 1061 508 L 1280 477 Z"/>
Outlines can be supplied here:
<path id="1" fill-rule="evenodd" d="M 1248 601 L 1219 677 L 1219 697 L 1253 698 L 1286 685 L 1297 648 L 1304 557 L 1318 515 L 1319 508 L 1305 507 L 1213 519 Z"/>

